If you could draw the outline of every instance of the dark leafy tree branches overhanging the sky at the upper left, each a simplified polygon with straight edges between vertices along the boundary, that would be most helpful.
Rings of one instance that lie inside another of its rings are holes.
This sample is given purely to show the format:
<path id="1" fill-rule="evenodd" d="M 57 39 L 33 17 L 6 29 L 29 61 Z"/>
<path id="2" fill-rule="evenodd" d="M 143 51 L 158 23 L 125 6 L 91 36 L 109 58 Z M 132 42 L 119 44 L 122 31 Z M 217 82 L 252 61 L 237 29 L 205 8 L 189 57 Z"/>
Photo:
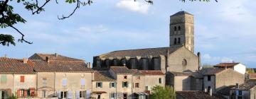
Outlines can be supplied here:
<path id="1" fill-rule="evenodd" d="M 0 0 L 0 28 L 13 28 L 16 30 L 17 33 L 21 35 L 21 38 L 18 39 L 18 42 L 26 42 L 28 44 L 32 44 L 32 42 L 28 42 L 27 40 L 24 39 L 23 33 L 21 33 L 20 30 L 14 27 L 17 23 L 26 23 L 26 20 L 22 18 L 18 13 L 14 13 L 14 7 L 11 6 L 10 1 L 16 1 L 17 4 L 23 4 L 24 8 L 28 11 L 31 11 L 31 13 L 34 14 L 39 14 L 42 11 L 45 11 L 44 6 L 46 6 L 50 1 L 55 1 L 56 4 L 58 4 L 58 0 Z M 138 1 L 138 0 L 134 0 Z M 153 4 L 153 0 L 143 0 L 148 4 Z M 196 0 L 180 0 L 180 1 L 196 1 Z M 210 0 L 198 0 L 198 1 L 210 1 Z M 217 0 L 215 0 L 217 1 Z M 75 8 L 73 11 L 68 15 L 68 16 L 58 16 L 59 20 L 63 20 L 65 18 L 70 18 L 70 16 L 73 16 L 73 13 L 80 8 L 80 6 L 87 6 L 91 5 L 93 3 L 92 0 L 65 0 L 66 3 L 68 4 L 73 4 L 75 3 Z M 14 4 L 14 3 L 13 3 Z M 40 5 L 41 4 L 41 5 Z M 1 45 L 15 45 L 14 42 L 14 37 L 12 35 L 0 35 L 0 44 Z"/>

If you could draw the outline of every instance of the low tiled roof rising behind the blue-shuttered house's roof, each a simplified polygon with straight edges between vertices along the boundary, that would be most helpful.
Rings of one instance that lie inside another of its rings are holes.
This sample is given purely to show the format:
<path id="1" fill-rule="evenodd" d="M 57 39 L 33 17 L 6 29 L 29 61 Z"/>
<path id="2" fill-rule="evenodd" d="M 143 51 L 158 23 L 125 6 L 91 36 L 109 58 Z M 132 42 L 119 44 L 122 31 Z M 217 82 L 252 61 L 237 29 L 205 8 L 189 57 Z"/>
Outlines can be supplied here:
<path id="1" fill-rule="evenodd" d="M 83 61 L 82 59 L 75 59 L 75 58 L 71 58 L 71 57 L 65 57 L 63 55 L 60 54 L 40 54 L 40 53 L 36 53 L 33 54 L 31 57 L 29 57 L 28 59 L 41 59 L 46 61 L 46 57 L 48 57 L 48 59 L 50 60 L 50 62 L 52 61 Z"/>

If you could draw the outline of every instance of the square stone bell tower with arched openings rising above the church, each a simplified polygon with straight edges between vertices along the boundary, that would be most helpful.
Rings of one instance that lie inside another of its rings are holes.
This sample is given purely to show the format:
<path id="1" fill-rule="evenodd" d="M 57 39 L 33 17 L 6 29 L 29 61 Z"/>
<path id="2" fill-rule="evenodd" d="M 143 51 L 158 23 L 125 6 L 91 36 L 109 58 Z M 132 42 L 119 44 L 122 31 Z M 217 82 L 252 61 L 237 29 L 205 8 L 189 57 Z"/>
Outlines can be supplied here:
<path id="1" fill-rule="evenodd" d="M 179 11 L 170 18 L 170 47 L 183 45 L 194 52 L 193 15 L 186 11 Z"/>

